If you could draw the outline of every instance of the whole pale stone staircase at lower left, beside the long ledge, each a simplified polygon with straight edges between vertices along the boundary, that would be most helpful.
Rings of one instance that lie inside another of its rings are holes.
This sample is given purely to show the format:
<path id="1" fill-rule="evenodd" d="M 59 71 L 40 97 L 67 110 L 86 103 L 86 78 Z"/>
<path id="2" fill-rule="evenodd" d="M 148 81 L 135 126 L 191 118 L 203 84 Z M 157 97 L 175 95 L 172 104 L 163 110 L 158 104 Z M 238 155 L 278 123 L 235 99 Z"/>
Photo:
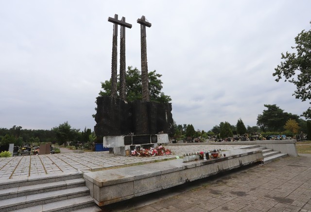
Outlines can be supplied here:
<path id="1" fill-rule="evenodd" d="M 83 173 L 0 181 L 0 211 L 100 212 Z"/>

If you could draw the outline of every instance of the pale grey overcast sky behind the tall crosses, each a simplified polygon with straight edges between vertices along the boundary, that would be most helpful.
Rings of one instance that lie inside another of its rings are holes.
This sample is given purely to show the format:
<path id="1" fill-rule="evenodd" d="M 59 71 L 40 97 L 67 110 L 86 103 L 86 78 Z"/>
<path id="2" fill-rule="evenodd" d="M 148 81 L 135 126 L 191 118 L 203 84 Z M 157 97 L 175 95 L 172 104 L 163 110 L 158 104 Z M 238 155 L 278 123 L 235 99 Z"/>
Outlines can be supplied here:
<path id="1" fill-rule="evenodd" d="M 111 77 L 114 14 L 133 25 L 126 66 L 139 70 L 137 19 L 152 23 L 148 70 L 162 74 L 177 124 L 254 126 L 264 104 L 300 115 L 309 102 L 272 73 L 310 30 L 310 9 L 310 0 L 0 0 L 0 127 L 68 121 L 94 130 L 95 100 Z"/>

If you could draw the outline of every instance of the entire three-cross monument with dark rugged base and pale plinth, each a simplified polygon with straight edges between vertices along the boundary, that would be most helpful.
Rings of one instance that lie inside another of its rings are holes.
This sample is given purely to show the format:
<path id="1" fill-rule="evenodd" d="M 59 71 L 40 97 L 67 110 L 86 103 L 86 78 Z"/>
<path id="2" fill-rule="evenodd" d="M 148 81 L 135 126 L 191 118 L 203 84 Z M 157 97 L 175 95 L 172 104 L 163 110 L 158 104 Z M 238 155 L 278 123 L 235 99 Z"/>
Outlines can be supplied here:
<path id="1" fill-rule="evenodd" d="M 142 100 L 126 101 L 125 82 L 125 27 L 132 25 L 125 18 L 109 17 L 113 23 L 112 60 L 111 60 L 111 96 L 97 97 L 97 112 L 94 127 L 97 142 L 103 142 L 110 147 L 110 152 L 126 155 L 138 146 L 143 148 L 155 147 L 158 143 L 169 142 L 168 134 L 173 126 L 172 104 L 150 101 L 148 87 L 148 65 L 146 27 L 151 23 L 142 16 L 140 24 L 141 44 L 141 85 Z M 118 25 L 121 26 L 120 38 L 120 89 L 117 90 L 118 66 Z"/>

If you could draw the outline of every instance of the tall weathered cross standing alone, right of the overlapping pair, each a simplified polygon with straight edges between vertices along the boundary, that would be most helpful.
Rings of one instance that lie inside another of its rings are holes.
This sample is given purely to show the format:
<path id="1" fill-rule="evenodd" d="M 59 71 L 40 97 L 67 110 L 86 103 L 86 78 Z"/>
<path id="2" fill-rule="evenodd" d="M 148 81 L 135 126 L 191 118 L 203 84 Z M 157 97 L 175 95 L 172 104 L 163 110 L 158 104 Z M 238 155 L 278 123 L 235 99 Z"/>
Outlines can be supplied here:
<path id="1" fill-rule="evenodd" d="M 137 19 L 140 24 L 140 58 L 141 58 L 141 87 L 142 87 L 142 100 L 150 101 L 149 88 L 148 88 L 148 64 L 147 64 L 147 41 L 146 41 L 146 26 L 151 27 L 151 23 L 146 21 L 142 16 Z"/>

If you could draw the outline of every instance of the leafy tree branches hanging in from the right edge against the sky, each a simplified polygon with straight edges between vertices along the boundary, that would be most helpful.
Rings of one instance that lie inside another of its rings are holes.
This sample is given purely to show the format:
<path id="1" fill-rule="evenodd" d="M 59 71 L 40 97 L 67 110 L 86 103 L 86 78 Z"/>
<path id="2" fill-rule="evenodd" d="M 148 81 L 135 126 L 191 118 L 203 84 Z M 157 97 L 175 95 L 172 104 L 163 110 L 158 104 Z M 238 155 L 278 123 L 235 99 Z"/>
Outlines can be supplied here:
<path id="1" fill-rule="evenodd" d="M 276 82 L 285 77 L 285 82 L 293 83 L 296 86 L 293 96 L 304 102 L 311 99 L 311 30 L 301 31 L 295 37 L 295 43 L 296 47 L 292 49 L 297 53 L 282 53 L 281 59 L 285 61 L 277 65 L 273 76 L 277 76 Z M 311 119 L 311 107 L 302 115 Z"/>

